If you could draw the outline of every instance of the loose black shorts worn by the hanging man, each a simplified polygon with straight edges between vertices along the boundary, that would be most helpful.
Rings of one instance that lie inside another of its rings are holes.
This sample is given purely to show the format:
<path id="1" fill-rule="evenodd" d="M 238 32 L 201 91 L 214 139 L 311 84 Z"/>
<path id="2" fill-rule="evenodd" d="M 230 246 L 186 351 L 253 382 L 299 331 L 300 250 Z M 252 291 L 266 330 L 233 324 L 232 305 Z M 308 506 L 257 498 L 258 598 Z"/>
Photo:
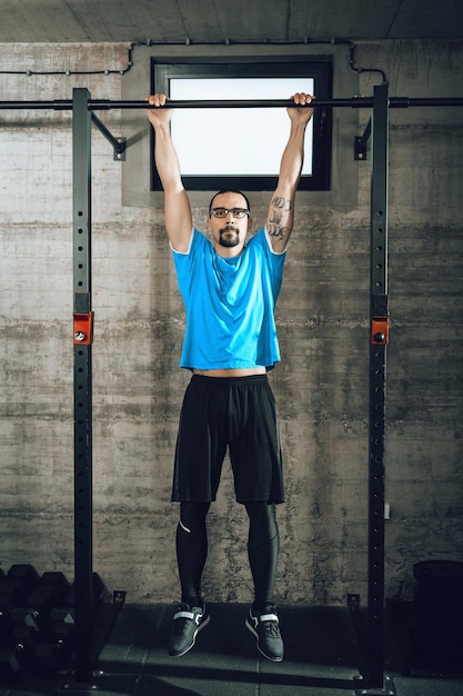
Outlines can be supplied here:
<path id="1" fill-rule="evenodd" d="M 180 415 L 172 500 L 215 500 L 227 447 L 238 503 L 283 503 L 276 409 L 266 375 L 193 375 Z"/>

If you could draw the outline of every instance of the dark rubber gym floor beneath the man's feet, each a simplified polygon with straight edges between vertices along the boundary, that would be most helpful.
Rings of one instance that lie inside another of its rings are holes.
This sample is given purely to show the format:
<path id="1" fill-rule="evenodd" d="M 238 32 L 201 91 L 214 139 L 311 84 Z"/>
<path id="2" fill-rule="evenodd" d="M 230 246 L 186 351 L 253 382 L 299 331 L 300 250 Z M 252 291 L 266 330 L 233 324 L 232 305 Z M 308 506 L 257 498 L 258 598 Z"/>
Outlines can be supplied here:
<path id="1" fill-rule="evenodd" d="M 359 629 L 359 620 L 344 607 L 280 607 L 285 657 L 275 664 L 258 653 L 244 627 L 244 605 L 210 604 L 211 622 L 194 648 L 183 657 L 170 657 L 165 645 L 173 608 L 122 606 L 99 653 L 91 684 L 77 684 L 71 664 L 49 677 L 19 674 L 12 683 L 0 685 L 0 695 L 463 696 L 463 660 L 442 668 L 430 659 L 420 664 L 411 655 L 406 607 L 386 614 L 384 683 L 376 689 L 368 689 L 361 678 L 365 674 L 361 612 Z"/>

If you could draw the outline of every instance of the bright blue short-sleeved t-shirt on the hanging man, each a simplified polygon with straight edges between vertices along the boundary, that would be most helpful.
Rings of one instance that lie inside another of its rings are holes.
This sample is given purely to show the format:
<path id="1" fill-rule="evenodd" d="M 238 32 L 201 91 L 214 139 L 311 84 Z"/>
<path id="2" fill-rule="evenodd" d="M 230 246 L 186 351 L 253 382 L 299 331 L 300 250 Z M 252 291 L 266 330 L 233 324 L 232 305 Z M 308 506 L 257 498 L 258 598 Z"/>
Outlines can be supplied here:
<path id="1" fill-rule="evenodd" d="M 265 228 L 234 258 L 220 257 L 195 228 L 189 251 L 172 253 L 187 309 L 180 367 L 272 369 L 280 360 L 274 308 L 285 253 L 274 253 Z"/>

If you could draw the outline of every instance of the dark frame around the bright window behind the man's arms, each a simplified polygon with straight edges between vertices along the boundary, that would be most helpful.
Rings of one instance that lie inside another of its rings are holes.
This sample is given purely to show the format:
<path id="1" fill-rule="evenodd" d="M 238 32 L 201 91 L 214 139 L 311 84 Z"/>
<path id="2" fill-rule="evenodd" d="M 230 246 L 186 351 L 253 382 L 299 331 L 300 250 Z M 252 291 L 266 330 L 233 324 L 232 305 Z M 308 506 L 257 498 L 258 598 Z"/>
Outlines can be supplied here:
<path id="1" fill-rule="evenodd" d="M 151 57 L 151 93 L 170 93 L 172 78 L 269 78 L 269 77 L 304 77 L 312 78 L 315 95 L 319 99 L 332 96 L 332 57 L 265 57 L 240 59 L 207 58 L 163 58 Z M 299 190 L 326 191 L 331 185 L 331 149 L 332 149 L 332 110 L 324 107 L 315 109 L 313 122 L 312 173 L 303 175 Z M 154 139 L 154 132 L 152 133 Z M 154 151 L 154 148 L 151 150 Z M 248 191 L 272 191 L 276 187 L 278 176 L 182 176 L 187 190 L 210 191 L 223 188 Z M 154 157 L 151 162 L 151 190 L 162 190 Z"/>

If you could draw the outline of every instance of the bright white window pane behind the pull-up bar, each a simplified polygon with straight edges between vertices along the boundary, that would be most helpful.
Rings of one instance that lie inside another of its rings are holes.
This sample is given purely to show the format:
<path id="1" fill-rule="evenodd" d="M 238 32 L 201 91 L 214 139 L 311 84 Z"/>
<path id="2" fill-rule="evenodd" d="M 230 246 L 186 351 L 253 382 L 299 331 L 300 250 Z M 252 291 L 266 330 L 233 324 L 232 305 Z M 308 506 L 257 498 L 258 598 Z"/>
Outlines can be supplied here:
<path id="1" fill-rule="evenodd" d="M 172 78 L 171 99 L 289 99 L 313 93 L 312 78 Z M 275 176 L 290 132 L 286 110 L 178 109 L 172 137 L 184 176 Z M 312 173 L 312 128 L 303 175 Z"/>

